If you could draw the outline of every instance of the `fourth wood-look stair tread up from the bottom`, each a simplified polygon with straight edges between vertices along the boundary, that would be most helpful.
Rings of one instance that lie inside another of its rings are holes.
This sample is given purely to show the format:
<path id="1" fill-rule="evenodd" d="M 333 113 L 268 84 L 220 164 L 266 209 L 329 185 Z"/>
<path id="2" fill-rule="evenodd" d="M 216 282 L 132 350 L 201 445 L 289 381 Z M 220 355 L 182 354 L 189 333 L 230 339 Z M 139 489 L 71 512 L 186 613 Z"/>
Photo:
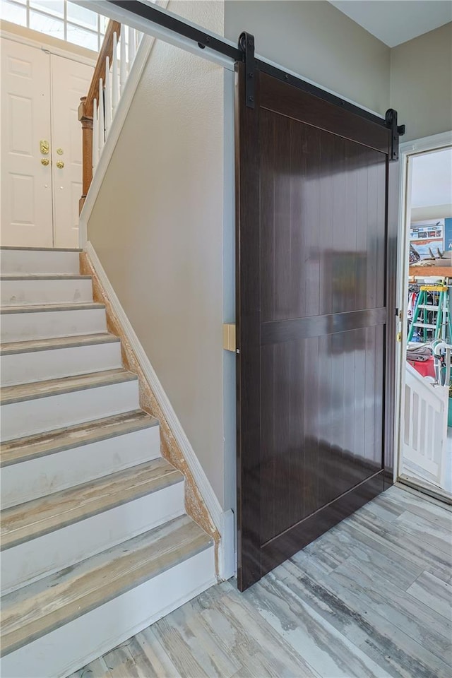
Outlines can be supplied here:
<path id="1" fill-rule="evenodd" d="M 47 398 L 47 396 L 59 396 L 71 391 L 83 391 L 85 388 L 108 386 L 112 383 L 134 381 L 136 379 L 138 379 L 138 376 L 133 374 L 133 372 L 129 372 L 122 367 L 117 367 L 116 369 L 105 369 L 100 372 L 64 376 L 59 379 L 19 383 L 16 386 L 5 386 L 5 388 L 1 389 L 0 405 L 11 405 L 11 403 L 19 403 L 23 400 L 33 400 L 35 398 Z"/>

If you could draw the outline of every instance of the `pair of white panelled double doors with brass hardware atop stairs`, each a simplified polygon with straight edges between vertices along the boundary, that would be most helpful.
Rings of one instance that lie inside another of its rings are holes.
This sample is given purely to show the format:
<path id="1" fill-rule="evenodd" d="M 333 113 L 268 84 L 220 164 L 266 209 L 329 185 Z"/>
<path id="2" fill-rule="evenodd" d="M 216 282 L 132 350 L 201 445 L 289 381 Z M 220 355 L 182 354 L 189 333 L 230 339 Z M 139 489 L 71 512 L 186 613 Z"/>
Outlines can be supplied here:
<path id="1" fill-rule="evenodd" d="M 15 35 L 6 37 L 4 32 L 0 45 L 4 112 L 1 243 L 78 246 L 82 172 L 77 107 L 90 82 L 93 66 L 71 59 L 70 52 L 51 54 L 40 44 Z M 15 64 L 8 68 L 11 59 Z M 79 83 L 83 87 L 77 87 Z M 28 117 L 24 102 L 30 104 Z M 20 145 L 11 145 L 11 138 Z M 49 146 L 47 153 L 42 141 Z M 64 167 L 57 165 L 61 162 Z"/>

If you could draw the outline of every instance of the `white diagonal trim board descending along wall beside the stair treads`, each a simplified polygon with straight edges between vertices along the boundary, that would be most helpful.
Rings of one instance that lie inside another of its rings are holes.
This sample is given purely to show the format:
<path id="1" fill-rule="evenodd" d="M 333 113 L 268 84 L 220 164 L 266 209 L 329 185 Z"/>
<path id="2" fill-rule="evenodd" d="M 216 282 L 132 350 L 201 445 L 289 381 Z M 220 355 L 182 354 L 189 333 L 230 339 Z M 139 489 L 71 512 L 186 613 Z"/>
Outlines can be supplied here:
<path id="1" fill-rule="evenodd" d="M 182 452 L 182 455 L 184 456 L 184 459 L 189 467 L 189 470 L 194 477 L 196 487 L 198 487 L 203 501 L 206 504 L 207 510 L 210 513 L 210 518 L 212 519 L 215 528 L 217 528 L 218 532 L 220 533 L 220 547 L 218 554 L 219 574 L 220 578 L 229 579 L 230 577 L 234 576 L 234 514 L 231 510 L 223 511 L 222 506 L 208 480 L 208 477 L 206 476 L 201 463 L 199 463 L 198 457 L 196 456 L 196 453 L 191 446 L 188 437 L 186 436 L 182 424 L 179 421 L 179 418 L 177 417 L 177 414 L 174 411 L 174 408 L 172 407 L 172 404 L 170 403 L 169 398 L 157 377 L 157 374 L 155 374 L 155 370 L 150 364 L 150 360 L 146 355 L 145 350 L 141 345 L 141 342 L 138 339 L 135 331 L 133 330 L 129 318 L 126 316 L 126 312 L 121 306 L 121 302 L 119 302 L 117 294 L 114 292 L 112 284 L 107 277 L 107 273 L 105 273 L 105 269 L 103 268 L 102 263 L 100 263 L 100 259 L 97 256 L 93 244 L 91 244 L 90 241 L 85 244 L 85 252 L 90 259 L 90 263 L 92 264 L 95 273 L 97 273 L 100 284 L 105 291 L 105 295 L 107 295 L 107 299 L 109 299 L 110 304 L 112 304 L 112 309 L 116 314 L 119 323 L 121 324 L 121 328 L 126 335 L 131 349 L 136 355 L 136 359 L 143 370 L 145 379 L 148 381 L 155 398 L 157 398 L 157 402 L 162 408 L 163 415 L 169 424 L 169 428 L 174 435 L 174 439 L 176 440 L 179 449 Z"/>

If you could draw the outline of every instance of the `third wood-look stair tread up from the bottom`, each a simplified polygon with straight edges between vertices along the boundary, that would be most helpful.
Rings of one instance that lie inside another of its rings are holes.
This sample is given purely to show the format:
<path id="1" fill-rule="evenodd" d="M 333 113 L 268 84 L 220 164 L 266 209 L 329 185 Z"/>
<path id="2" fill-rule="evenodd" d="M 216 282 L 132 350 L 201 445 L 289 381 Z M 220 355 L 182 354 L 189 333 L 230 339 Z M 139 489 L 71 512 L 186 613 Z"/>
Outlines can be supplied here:
<path id="1" fill-rule="evenodd" d="M 8 440 L 1 444 L 0 467 L 157 426 L 158 423 L 158 420 L 148 415 L 148 412 L 133 410 L 113 417 L 103 417 L 92 422 Z"/>

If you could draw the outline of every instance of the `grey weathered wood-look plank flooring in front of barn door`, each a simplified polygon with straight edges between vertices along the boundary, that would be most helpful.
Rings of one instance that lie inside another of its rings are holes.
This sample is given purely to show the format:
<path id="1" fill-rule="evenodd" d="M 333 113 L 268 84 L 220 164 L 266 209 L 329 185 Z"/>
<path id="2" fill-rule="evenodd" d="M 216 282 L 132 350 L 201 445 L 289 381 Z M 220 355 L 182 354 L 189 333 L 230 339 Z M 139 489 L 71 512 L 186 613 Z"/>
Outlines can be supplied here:
<path id="1" fill-rule="evenodd" d="M 71 678 L 451 678 L 452 512 L 392 487 L 245 593 L 210 588 Z"/>

